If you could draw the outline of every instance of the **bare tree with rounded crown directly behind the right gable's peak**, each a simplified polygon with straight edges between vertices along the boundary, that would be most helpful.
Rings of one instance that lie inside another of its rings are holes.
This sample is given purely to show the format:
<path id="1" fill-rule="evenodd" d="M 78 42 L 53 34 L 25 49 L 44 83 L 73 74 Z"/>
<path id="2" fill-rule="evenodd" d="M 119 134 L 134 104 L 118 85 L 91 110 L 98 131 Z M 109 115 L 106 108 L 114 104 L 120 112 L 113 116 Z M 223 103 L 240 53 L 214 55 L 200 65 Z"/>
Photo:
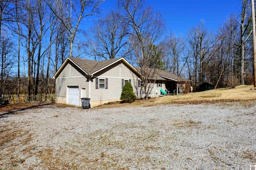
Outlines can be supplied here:
<path id="1" fill-rule="evenodd" d="M 113 10 L 104 20 L 97 20 L 92 31 L 92 39 L 88 41 L 90 55 L 101 59 L 114 59 L 116 56 L 125 57 L 122 53 L 128 44 L 127 24 L 123 23 L 122 16 Z M 123 51 L 122 51 L 123 50 Z"/>

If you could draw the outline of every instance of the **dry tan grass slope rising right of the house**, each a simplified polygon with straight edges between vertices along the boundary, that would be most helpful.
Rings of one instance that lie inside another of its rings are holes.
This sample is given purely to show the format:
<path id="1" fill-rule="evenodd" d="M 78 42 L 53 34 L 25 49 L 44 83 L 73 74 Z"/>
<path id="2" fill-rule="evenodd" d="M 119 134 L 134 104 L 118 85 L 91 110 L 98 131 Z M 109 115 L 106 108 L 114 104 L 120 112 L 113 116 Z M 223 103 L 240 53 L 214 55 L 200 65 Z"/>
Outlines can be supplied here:
<path id="1" fill-rule="evenodd" d="M 123 106 L 156 106 L 159 104 L 201 104 L 218 102 L 240 102 L 246 104 L 248 101 L 256 100 L 256 89 L 253 85 L 240 85 L 235 88 L 220 88 L 204 92 L 182 94 L 178 96 L 164 96 L 149 100 L 137 100 L 132 104 L 120 104 L 113 102 L 107 105 L 97 106 L 104 108 Z"/>

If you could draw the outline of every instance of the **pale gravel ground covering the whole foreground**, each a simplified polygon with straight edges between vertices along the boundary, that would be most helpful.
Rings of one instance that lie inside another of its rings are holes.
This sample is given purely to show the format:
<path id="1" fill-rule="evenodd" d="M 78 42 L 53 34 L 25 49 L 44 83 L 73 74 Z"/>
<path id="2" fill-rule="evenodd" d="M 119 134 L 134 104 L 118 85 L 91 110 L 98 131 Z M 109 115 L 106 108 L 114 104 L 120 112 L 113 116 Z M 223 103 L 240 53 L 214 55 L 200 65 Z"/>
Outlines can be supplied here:
<path id="1" fill-rule="evenodd" d="M 0 170 L 250 169 L 256 103 L 0 112 Z"/>

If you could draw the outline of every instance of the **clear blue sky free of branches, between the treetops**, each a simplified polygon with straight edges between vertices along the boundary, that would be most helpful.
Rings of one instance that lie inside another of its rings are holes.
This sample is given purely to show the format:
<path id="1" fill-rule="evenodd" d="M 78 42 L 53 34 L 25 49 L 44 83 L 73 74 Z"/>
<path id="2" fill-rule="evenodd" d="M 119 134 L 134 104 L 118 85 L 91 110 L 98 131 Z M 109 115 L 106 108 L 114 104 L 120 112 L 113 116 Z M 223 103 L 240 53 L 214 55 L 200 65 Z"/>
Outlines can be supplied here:
<path id="1" fill-rule="evenodd" d="M 176 35 L 186 35 L 187 31 L 198 25 L 202 19 L 206 27 L 216 31 L 229 14 L 240 13 L 241 8 L 241 0 L 145 0 L 145 2 L 148 6 L 152 6 L 153 10 L 161 12 L 167 27 L 170 27 Z M 106 0 L 101 9 L 104 13 L 115 7 L 116 0 Z M 87 20 L 87 24 L 92 25 L 93 21 Z"/>

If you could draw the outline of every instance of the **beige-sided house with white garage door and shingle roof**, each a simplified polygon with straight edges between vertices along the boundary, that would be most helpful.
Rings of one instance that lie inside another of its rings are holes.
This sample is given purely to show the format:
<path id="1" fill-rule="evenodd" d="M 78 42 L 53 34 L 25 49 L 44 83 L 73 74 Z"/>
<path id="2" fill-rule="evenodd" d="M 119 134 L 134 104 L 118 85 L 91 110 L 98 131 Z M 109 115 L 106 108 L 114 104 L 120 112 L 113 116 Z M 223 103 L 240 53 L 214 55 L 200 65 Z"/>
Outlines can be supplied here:
<path id="1" fill-rule="evenodd" d="M 56 79 L 56 103 L 81 106 L 81 98 L 90 98 L 91 106 L 120 100 L 126 82 L 133 86 L 138 96 L 141 73 L 124 58 L 92 61 L 68 57 L 53 78 Z M 160 70 L 150 96 L 160 95 L 160 89 L 173 90 L 181 78 Z M 178 84 L 178 86 L 180 86 Z"/>

